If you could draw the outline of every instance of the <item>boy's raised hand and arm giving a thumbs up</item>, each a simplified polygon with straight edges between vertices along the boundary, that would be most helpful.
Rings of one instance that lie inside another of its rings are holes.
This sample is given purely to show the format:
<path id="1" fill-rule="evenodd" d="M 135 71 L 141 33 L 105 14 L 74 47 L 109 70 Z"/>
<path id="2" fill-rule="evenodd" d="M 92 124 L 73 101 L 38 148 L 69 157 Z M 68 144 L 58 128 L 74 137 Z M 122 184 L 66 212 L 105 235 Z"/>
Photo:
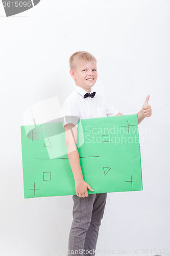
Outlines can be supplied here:
<path id="1" fill-rule="evenodd" d="M 150 117 L 152 115 L 151 106 L 148 104 L 150 96 L 148 95 L 145 99 L 142 109 L 137 113 L 138 124 L 145 118 Z M 123 114 L 118 113 L 116 116 L 123 116 Z"/>

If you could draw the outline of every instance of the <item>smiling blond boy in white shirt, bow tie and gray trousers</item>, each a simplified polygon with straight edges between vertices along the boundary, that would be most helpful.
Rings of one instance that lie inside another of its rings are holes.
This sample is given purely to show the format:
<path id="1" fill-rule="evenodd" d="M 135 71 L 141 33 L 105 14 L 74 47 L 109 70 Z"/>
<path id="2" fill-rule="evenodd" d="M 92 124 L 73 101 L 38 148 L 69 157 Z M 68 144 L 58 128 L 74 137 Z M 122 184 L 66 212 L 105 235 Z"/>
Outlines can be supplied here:
<path id="1" fill-rule="evenodd" d="M 75 90 L 66 98 L 61 109 L 63 116 L 77 116 L 80 119 L 119 116 L 112 104 L 92 91 L 98 73 L 96 59 L 88 52 L 76 52 L 69 59 L 70 75 L 76 82 Z M 138 123 L 151 116 L 149 95 L 138 114 Z M 71 123 L 72 122 L 72 123 Z M 69 163 L 75 178 L 77 195 L 72 196 L 74 208 L 73 221 L 69 234 L 68 255 L 95 255 L 99 227 L 103 218 L 107 193 L 89 194 L 94 191 L 83 179 L 79 153 L 76 146 L 77 127 L 75 120 L 66 121 L 64 125 Z M 70 131 L 69 131 L 70 130 Z"/>

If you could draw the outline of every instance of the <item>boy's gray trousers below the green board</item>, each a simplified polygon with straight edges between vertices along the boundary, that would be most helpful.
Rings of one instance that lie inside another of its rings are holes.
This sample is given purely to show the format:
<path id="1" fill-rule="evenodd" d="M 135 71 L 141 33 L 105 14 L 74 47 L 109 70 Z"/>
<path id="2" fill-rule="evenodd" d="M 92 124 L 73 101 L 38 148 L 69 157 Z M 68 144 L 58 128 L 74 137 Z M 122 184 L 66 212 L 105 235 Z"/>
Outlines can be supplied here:
<path id="1" fill-rule="evenodd" d="M 85 198 L 72 196 L 74 207 L 68 241 L 68 256 L 95 255 L 106 198 L 107 193 L 89 194 Z"/>

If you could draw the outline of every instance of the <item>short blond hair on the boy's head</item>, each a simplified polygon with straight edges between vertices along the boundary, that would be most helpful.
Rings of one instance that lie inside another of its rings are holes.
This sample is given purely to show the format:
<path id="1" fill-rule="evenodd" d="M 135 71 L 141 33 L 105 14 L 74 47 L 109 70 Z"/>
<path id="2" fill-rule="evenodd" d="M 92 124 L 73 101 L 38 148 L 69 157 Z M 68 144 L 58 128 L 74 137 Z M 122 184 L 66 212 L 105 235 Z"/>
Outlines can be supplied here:
<path id="1" fill-rule="evenodd" d="M 69 67 L 71 70 L 76 70 L 82 62 L 93 61 L 97 62 L 96 58 L 89 52 L 75 52 L 69 58 Z"/>

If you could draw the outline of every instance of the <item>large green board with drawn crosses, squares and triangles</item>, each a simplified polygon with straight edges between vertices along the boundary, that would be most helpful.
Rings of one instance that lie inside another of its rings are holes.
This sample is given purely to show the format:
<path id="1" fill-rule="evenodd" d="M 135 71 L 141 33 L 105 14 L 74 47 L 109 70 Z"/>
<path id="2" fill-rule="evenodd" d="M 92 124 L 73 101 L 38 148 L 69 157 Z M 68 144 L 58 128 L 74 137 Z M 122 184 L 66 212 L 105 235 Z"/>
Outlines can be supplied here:
<path id="1" fill-rule="evenodd" d="M 60 119 L 21 126 L 21 144 L 25 198 L 76 195 Z M 79 120 L 77 146 L 89 194 L 142 190 L 137 114 Z"/>

